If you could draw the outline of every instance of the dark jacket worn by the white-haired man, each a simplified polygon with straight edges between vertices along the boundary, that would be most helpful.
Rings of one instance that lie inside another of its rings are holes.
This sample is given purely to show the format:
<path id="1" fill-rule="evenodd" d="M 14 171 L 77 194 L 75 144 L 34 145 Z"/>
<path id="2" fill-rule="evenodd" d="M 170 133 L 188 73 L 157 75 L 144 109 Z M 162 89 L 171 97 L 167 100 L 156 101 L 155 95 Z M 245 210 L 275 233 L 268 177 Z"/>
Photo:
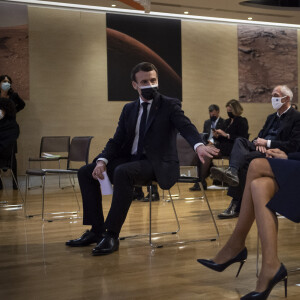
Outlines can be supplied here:
<path id="1" fill-rule="evenodd" d="M 268 134 L 275 118 L 277 118 L 277 113 L 268 116 L 264 127 L 258 134 L 259 138 L 264 138 Z M 279 148 L 286 153 L 300 149 L 300 112 L 291 108 L 286 112 L 280 122 L 275 140 L 271 141 L 271 148 Z"/>

